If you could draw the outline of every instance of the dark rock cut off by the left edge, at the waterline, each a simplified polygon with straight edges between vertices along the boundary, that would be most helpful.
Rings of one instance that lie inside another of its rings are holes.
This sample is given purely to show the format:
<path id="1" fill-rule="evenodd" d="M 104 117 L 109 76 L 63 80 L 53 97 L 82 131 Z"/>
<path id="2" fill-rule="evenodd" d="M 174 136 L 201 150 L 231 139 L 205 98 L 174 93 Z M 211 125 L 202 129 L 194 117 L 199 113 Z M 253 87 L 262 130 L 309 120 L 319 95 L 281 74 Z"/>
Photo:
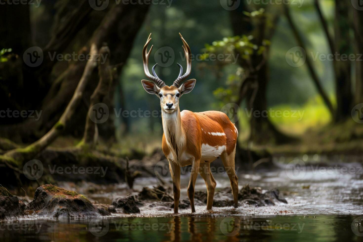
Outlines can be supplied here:
<path id="1" fill-rule="evenodd" d="M 25 204 L 0 186 L 0 220 L 24 215 Z"/>

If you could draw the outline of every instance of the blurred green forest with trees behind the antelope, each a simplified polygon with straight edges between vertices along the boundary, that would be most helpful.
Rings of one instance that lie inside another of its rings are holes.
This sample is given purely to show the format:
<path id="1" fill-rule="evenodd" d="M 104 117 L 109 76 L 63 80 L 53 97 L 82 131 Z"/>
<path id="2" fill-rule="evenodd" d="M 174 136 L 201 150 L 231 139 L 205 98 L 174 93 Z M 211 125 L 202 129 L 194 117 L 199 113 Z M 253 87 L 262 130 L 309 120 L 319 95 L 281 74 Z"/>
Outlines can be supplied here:
<path id="1" fill-rule="evenodd" d="M 42 111 L 38 120 L 0 118 L 0 162 L 18 180 L 24 163 L 34 157 L 52 164 L 65 159 L 115 162 L 110 156 L 142 159 L 161 147 L 159 116 L 122 114 L 160 110 L 158 99 L 140 82 L 145 79 L 142 48 L 149 33 L 154 45 L 150 66 L 159 63 L 156 71 L 168 85 L 178 76 L 176 63 L 185 68 L 179 32 L 199 57 L 192 60 L 190 75 L 197 79 L 196 87 L 181 98 L 181 110 L 232 114 L 239 130 L 239 162 L 254 162 L 266 153 L 361 153 L 359 0 L 103 2 L 108 5 L 102 10 L 92 8 L 88 0 L 0 8 L 0 110 Z M 43 53 L 35 67 L 25 61 L 34 46 Z M 51 60 L 54 52 L 102 52 L 110 58 L 106 66 L 98 63 L 95 68 L 87 61 Z M 331 53 L 354 54 L 354 60 L 319 58 Z M 171 61 L 160 66 L 158 58 L 169 54 Z M 231 54 L 230 61 L 213 61 L 213 54 Z M 77 92 L 80 80 L 87 82 Z M 97 95 L 91 99 L 93 93 Z M 87 112 L 91 104 L 101 102 L 109 118 L 93 124 Z M 273 113 L 261 117 L 250 115 L 251 110 Z M 286 115 L 274 115 L 276 111 Z M 256 152 L 253 158 L 246 150 Z"/>

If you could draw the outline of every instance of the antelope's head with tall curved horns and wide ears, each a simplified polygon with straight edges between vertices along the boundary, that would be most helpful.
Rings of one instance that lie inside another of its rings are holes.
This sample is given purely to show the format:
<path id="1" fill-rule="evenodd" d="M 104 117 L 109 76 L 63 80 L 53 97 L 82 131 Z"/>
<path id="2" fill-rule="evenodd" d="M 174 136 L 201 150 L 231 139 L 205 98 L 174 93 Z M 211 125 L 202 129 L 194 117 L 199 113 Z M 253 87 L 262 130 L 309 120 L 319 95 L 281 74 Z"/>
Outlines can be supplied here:
<path id="1" fill-rule="evenodd" d="M 167 86 L 164 83 L 164 81 L 162 81 L 158 77 L 158 75 L 156 75 L 155 67 L 156 67 L 156 65 L 158 65 L 157 63 L 152 67 L 152 75 L 149 72 L 148 61 L 149 61 L 149 56 L 150 56 L 153 45 L 151 46 L 149 51 L 147 51 L 147 45 L 151 41 L 151 38 L 150 38 L 151 34 L 147 38 L 146 44 L 144 45 L 144 48 L 142 51 L 142 53 L 143 53 L 142 58 L 143 58 L 143 62 L 144 62 L 144 72 L 145 72 L 146 77 L 148 77 L 150 79 L 150 81 L 142 80 L 141 81 L 142 85 L 143 85 L 145 91 L 147 91 L 150 94 L 155 94 L 156 96 L 158 96 L 158 98 L 160 99 L 160 106 L 161 106 L 162 110 L 165 112 L 168 112 L 168 113 L 172 113 L 172 112 L 178 110 L 179 98 L 183 94 L 187 94 L 191 90 L 193 90 L 195 82 L 196 82 L 195 79 L 190 79 L 190 80 L 184 82 L 185 79 L 188 78 L 188 76 L 190 75 L 190 72 L 192 69 L 191 51 L 190 51 L 189 45 L 184 40 L 183 36 L 181 36 L 180 33 L 179 33 L 179 35 L 184 44 L 183 49 L 184 49 L 185 59 L 187 60 L 187 71 L 185 72 L 184 75 L 182 75 L 183 67 L 179 63 L 177 63 L 177 65 L 180 68 L 180 72 L 179 72 L 178 78 L 176 78 L 176 80 L 174 81 L 172 86 Z"/>

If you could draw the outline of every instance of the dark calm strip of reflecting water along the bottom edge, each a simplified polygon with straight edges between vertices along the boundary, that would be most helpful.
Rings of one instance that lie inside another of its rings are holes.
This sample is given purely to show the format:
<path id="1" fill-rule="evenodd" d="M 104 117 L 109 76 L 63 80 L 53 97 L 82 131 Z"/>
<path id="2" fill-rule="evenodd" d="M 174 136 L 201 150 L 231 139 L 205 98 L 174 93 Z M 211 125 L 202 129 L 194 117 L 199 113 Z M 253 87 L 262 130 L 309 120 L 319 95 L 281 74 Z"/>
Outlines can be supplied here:
<path id="1" fill-rule="evenodd" d="M 169 216 L 0 222 L 1 241 L 363 241 L 362 216 Z"/>

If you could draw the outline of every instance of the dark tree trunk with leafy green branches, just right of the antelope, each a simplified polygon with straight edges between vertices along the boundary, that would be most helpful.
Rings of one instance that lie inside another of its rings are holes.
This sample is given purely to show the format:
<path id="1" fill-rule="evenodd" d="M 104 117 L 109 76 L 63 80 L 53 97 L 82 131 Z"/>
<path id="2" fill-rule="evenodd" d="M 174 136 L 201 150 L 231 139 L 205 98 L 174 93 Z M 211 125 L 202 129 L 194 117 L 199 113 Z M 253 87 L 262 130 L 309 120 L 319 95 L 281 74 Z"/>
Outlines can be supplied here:
<path id="1" fill-rule="evenodd" d="M 262 17 L 258 22 L 257 26 L 252 26 L 250 21 L 242 13 L 242 10 L 243 9 L 237 8 L 236 10 L 231 11 L 232 29 L 234 31 L 233 34 L 252 34 L 254 36 L 254 42 L 256 45 L 262 45 L 262 41 L 264 39 L 270 40 L 273 36 L 274 30 L 273 28 L 266 29 L 266 21 L 268 20 L 266 20 L 265 17 Z M 273 16 L 273 24 L 276 24 L 277 20 L 278 16 Z M 249 31 L 250 29 L 252 29 L 252 33 Z M 248 104 L 248 112 L 252 111 L 252 115 L 250 117 L 251 133 L 249 140 L 258 144 L 270 142 L 284 143 L 292 139 L 289 136 L 286 136 L 278 131 L 277 128 L 274 127 L 274 125 L 270 122 L 268 117 L 264 115 L 253 115 L 254 111 L 263 112 L 268 110 L 266 93 L 267 84 L 269 81 L 267 60 L 269 56 L 269 48 L 267 48 L 266 52 L 267 53 L 265 56 L 257 54 L 253 54 L 251 56 L 251 63 L 253 68 L 255 69 L 254 71 L 246 69 L 246 66 L 242 65 L 243 60 L 241 59 L 241 55 L 238 57 L 238 63 L 240 63 L 241 67 L 245 69 L 248 78 L 254 79 L 252 81 L 254 82 L 254 84 L 252 84 L 253 87 L 249 87 L 250 90 L 247 91 L 246 95 L 247 103 L 251 103 L 251 106 L 249 106 Z M 263 64 L 261 65 L 261 63 Z M 259 67 L 257 68 L 257 66 Z M 240 95 L 241 94 L 242 93 L 240 92 Z M 244 97 L 240 97 L 239 100 L 242 101 L 243 98 Z M 238 101 L 238 105 L 240 105 L 240 101 Z"/>

